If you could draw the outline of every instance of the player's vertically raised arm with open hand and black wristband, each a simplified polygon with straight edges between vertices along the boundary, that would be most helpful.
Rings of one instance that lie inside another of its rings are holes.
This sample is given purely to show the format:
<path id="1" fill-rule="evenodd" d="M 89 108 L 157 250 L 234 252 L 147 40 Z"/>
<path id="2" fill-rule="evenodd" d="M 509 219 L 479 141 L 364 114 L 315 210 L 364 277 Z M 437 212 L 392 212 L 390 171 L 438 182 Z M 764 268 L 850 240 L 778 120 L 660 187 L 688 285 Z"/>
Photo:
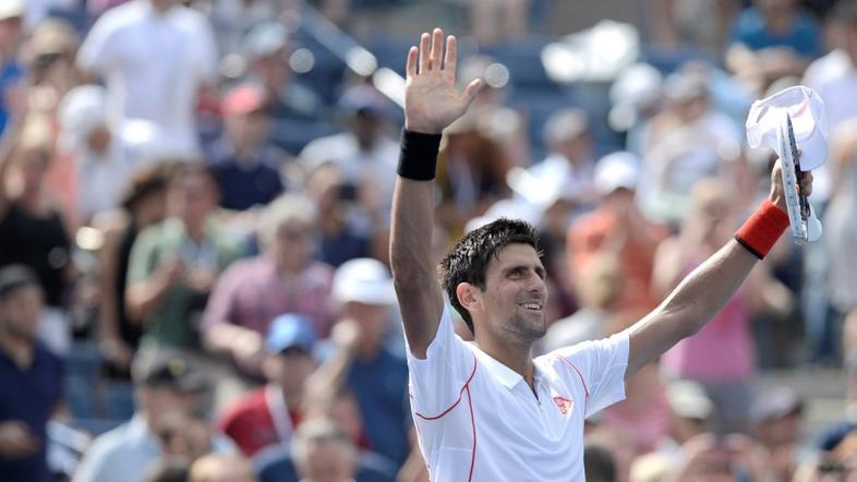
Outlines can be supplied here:
<path id="1" fill-rule="evenodd" d="M 419 64 L 418 64 L 419 56 Z M 405 133 L 399 176 L 393 194 L 390 266 L 399 299 L 405 336 L 411 353 L 425 358 L 444 309 L 432 262 L 434 168 L 440 132 L 464 113 L 480 81 L 463 94 L 456 88 L 456 38 L 439 28 L 423 34 L 408 52 L 405 87 Z"/>

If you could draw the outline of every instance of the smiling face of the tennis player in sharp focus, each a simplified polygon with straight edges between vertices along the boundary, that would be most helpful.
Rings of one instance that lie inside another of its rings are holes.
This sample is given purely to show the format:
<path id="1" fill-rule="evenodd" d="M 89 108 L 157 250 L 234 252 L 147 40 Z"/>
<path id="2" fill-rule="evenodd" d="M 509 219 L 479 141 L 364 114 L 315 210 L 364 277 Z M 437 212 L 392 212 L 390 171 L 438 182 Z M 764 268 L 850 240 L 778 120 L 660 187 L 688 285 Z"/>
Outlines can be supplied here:
<path id="1" fill-rule="evenodd" d="M 499 338 L 534 341 L 545 333 L 547 303 L 545 269 L 535 249 L 509 244 L 497 253 L 485 274 L 485 290 L 476 290 L 476 309 L 485 326 Z M 475 317 L 474 317 L 475 318 Z"/>

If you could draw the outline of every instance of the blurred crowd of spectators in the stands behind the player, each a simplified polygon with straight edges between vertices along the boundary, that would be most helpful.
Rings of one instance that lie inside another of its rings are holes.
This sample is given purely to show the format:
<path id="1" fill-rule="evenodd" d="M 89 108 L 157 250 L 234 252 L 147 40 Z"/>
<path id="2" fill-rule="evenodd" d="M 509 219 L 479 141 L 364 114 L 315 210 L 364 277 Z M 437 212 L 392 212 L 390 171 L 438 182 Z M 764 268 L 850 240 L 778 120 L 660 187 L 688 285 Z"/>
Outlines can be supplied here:
<path id="1" fill-rule="evenodd" d="M 435 255 L 536 226 L 540 352 L 656 306 L 770 189 L 751 101 L 821 96 L 822 241 L 784 236 L 588 420 L 587 480 L 857 480 L 857 1 L 641 0 L 591 43 L 548 32 L 572 3 L 0 0 L 0 479 L 427 481 L 387 242 L 437 24 L 486 86 L 444 135 Z M 761 388 L 819 367 L 832 424 Z"/>

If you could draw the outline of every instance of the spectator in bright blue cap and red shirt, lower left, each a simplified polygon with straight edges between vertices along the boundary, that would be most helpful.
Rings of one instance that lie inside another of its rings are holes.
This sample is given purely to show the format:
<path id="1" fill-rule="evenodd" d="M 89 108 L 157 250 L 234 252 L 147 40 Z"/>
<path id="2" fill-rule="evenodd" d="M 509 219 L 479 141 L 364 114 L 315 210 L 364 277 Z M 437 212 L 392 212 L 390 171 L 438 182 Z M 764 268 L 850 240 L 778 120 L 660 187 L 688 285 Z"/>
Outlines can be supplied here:
<path id="1" fill-rule="evenodd" d="M 291 439 L 304 408 L 309 408 L 304 385 L 315 369 L 314 342 L 313 325 L 301 315 L 285 314 L 270 324 L 263 362 L 267 385 L 236 400 L 218 421 L 245 456 Z"/>

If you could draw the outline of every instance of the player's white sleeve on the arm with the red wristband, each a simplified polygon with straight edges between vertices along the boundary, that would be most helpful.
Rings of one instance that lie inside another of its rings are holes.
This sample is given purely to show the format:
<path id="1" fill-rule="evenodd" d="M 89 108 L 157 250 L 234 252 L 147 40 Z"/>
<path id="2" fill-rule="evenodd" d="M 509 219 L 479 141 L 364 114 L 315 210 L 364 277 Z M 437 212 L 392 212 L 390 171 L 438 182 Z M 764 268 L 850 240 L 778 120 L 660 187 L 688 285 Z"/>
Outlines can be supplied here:
<path id="1" fill-rule="evenodd" d="M 583 383 L 587 417 L 625 399 L 629 344 L 628 334 L 623 332 L 548 353 L 559 359 L 556 367 L 564 377 Z"/>

